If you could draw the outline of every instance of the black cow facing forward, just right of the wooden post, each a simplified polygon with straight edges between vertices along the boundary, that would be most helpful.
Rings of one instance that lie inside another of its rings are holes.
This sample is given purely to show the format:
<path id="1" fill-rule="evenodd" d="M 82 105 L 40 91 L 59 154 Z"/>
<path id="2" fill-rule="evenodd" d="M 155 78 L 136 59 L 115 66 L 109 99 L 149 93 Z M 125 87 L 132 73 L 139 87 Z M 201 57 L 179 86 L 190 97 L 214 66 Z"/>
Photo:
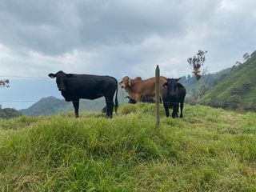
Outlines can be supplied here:
<path id="1" fill-rule="evenodd" d="M 173 108 L 172 117 L 178 118 L 178 104 L 180 103 L 181 114 L 180 118 L 183 117 L 183 106 L 184 99 L 186 96 L 186 89 L 178 82 L 181 78 L 168 78 L 164 85 L 162 94 L 163 106 L 166 110 L 166 117 L 170 116 L 169 109 Z"/>

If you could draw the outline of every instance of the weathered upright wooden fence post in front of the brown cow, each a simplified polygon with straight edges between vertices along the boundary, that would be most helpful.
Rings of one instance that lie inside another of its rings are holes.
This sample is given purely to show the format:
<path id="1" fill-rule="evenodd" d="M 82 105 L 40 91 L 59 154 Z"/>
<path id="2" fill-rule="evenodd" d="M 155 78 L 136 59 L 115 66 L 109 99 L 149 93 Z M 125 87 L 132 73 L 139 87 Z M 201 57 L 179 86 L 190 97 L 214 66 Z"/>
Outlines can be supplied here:
<path id="1" fill-rule="evenodd" d="M 155 69 L 155 125 L 158 127 L 160 125 L 160 70 L 159 66 Z"/>

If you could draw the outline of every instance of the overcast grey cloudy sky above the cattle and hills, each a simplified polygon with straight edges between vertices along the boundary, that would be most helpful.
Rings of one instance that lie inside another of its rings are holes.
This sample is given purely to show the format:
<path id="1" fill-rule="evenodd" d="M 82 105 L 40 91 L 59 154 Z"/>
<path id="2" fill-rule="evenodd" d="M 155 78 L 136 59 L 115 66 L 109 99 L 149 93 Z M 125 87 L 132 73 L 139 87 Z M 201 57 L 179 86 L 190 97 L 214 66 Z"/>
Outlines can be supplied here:
<path id="1" fill-rule="evenodd" d="M 256 50 L 255 0 L 0 0 L 1 76 L 217 72 Z M 53 82 L 54 83 L 54 82 Z"/>

